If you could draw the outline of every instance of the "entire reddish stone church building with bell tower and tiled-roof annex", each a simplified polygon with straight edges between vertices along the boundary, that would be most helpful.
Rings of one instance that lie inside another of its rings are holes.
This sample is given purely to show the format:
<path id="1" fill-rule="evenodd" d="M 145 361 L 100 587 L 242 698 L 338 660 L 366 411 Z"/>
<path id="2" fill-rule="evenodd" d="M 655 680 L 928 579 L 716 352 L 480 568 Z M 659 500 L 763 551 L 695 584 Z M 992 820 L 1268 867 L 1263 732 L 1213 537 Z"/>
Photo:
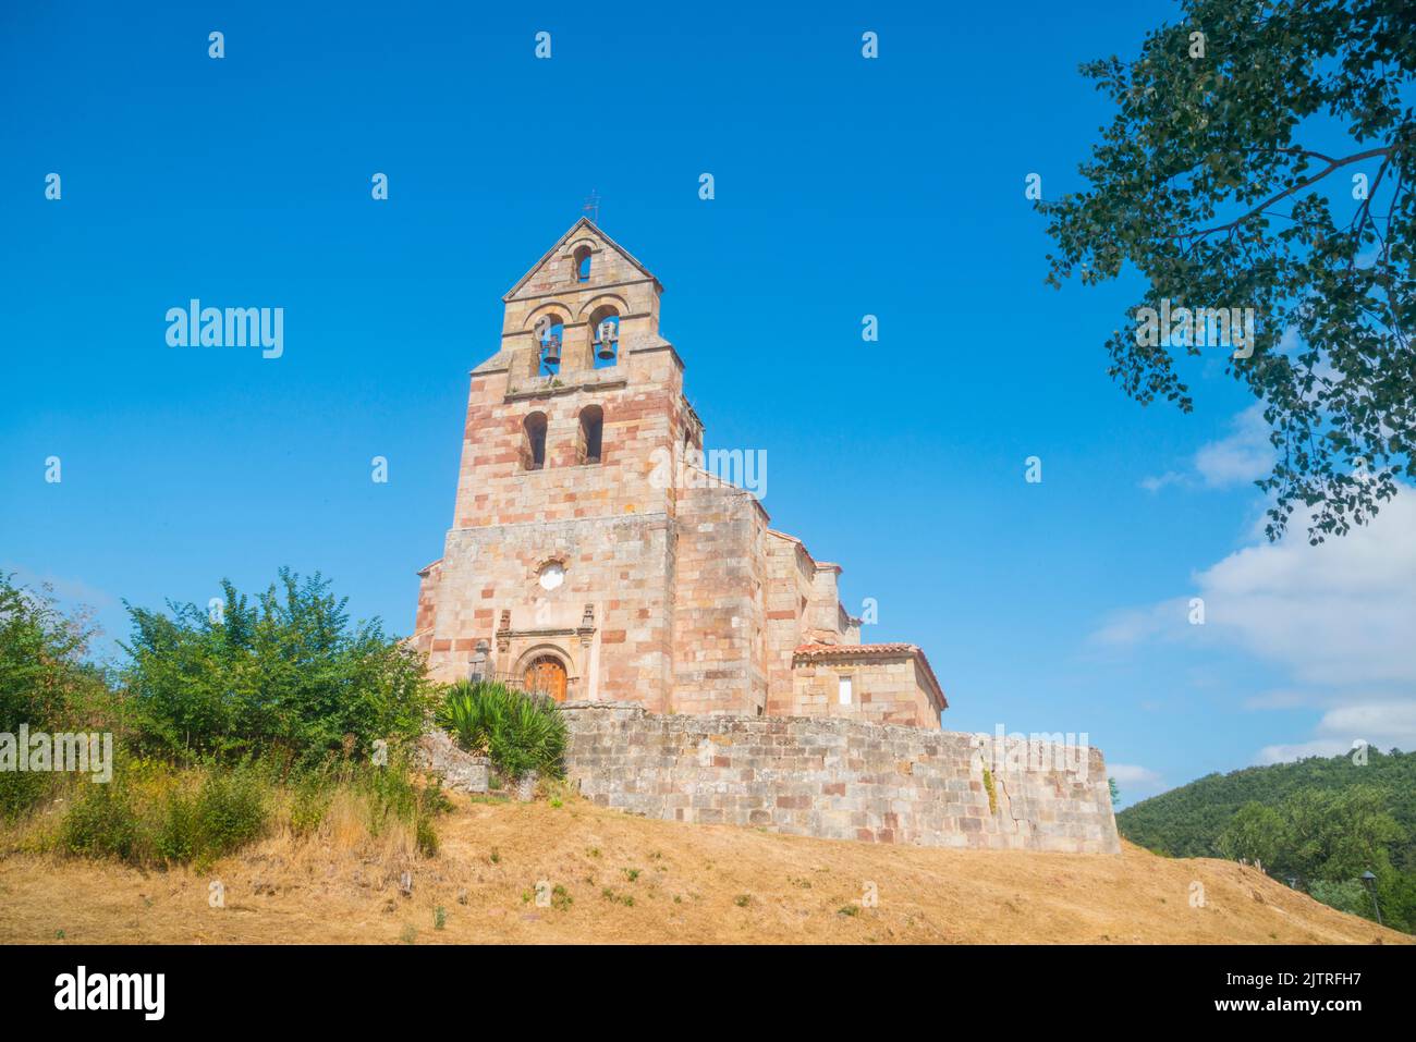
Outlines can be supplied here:
<path id="1" fill-rule="evenodd" d="M 862 644 L 840 565 L 702 470 L 661 293 L 582 218 L 503 297 L 501 345 L 472 371 L 443 556 L 419 572 L 412 641 L 433 678 L 940 728 L 923 651 Z"/>

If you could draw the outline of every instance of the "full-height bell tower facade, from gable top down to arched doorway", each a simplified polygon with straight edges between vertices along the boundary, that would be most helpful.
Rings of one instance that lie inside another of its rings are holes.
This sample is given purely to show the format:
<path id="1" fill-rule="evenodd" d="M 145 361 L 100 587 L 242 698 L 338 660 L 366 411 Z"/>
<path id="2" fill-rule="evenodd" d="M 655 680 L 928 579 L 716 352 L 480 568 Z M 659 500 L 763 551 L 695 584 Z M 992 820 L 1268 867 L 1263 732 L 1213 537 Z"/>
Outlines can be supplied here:
<path id="1" fill-rule="evenodd" d="M 664 460 L 702 446 L 663 286 L 581 218 L 506 293 L 472 371 L 452 528 L 415 644 L 438 680 L 547 678 L 667 711 L 674 515 Z M 480 668 L 479 668 L 480 667 Z"/>

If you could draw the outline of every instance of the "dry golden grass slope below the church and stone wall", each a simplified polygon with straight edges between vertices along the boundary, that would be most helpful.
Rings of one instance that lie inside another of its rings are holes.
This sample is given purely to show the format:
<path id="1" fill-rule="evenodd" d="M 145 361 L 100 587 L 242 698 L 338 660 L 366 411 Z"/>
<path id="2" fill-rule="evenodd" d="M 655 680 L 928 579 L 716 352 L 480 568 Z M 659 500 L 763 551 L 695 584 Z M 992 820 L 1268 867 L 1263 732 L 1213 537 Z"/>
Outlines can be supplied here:
<path id="1" fill-rule="evenodd" d="M 649 821 L 575 798 L 453 804 L 435 858 L 406 830 L 370 837 L 360 807 L 338 800 L 316 837 L 280 828 L 202 875 L 11 854 L 0 943 L 1412 940 L 1253 868 L 1129 844 L 1120 857 L 939 851 Z M 214 879 L 225 908 L 208 905 Z M 564 888 L 549 908 L 539 881 Z M 1191 908 L 1192 882 L 1204 908 Z"/>

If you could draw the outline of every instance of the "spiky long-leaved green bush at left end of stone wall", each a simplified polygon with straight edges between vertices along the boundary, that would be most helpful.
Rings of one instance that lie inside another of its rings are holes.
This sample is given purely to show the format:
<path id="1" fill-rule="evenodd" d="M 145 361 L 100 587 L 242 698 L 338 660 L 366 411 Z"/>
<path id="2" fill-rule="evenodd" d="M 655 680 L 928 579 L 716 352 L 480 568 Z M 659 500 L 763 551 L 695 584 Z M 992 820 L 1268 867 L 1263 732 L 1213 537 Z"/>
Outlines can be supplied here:
<path id="1" fill-rule="evenodd" d="M 530 772 L 564 774 L 566 726 L 555 702 L 493 681 L 459 681 L 449 687 L 439 723 L 467 752 L 491 757 L 508 779 Z"/>

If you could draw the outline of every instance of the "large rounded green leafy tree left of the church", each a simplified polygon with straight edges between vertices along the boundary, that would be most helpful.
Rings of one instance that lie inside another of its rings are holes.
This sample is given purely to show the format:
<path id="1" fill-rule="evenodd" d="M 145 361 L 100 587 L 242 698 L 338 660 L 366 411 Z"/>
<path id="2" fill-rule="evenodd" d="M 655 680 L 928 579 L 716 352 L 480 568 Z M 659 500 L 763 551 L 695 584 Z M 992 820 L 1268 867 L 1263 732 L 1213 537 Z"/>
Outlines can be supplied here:
<path id="1" fill-rule="evenodd" d="M 319 573 L 283 568 L 255 600 L 231 582 L 222 617 L 195 605 L 170 614 L 129 606 L 125 674 L 137 745 L 176 756 L 367 756 L 378 739 L 411 740 L 432 708 L 422 655 L 353 624 Z"/>

